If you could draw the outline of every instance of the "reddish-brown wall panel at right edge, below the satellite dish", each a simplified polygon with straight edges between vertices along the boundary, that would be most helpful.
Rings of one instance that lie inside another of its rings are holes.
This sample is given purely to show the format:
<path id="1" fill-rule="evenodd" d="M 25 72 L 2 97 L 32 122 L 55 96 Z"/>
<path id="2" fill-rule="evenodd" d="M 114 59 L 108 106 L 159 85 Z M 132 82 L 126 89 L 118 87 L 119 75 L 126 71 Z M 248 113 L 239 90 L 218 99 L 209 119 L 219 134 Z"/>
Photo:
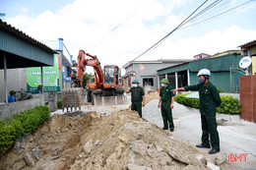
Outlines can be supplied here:
<path id="1" fill-rule="evenodd" d="M 241 76 L 240 79 L 241 119 L 256 123 L 256 75 Z"/>

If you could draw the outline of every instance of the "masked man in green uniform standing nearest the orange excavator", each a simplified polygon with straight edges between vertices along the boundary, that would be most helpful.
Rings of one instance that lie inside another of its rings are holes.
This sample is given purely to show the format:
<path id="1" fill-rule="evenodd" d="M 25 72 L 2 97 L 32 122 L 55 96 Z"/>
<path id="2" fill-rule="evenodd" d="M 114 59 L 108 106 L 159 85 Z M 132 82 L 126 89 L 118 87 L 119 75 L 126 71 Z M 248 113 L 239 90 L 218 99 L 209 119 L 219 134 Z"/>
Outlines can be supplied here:
<path id="1" fill-rule="evenodd" d="M 136 110 L 142 118 L 142 106 L 145 106 L 145 92 L 138 80 L 133 80 L 133 87 L 130 88 L 132 96 L 132 110 Z"/>

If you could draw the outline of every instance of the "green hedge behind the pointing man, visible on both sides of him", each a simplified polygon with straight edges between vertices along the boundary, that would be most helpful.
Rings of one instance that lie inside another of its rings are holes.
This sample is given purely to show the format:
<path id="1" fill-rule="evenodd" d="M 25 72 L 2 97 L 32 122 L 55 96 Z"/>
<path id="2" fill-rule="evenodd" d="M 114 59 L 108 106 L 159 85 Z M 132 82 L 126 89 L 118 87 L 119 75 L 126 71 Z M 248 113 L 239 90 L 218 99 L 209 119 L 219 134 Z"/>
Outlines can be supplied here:
<path id="1" fill-rule="evenodd" d="M 183 104 L 185 106 L 199 108 L 200 101 L 198 98 L 188 98 L 185 97 L 189 93 L 177 95 L 174 97 L 175 101 Z M 221 95 L 222 104 L 220 107 L 217 107 L 217 112 L 224 114 L 240 114 L 241 112 L 241 104 L 239 103 L 237 98 L 233 98 L 230 95 Z"/>

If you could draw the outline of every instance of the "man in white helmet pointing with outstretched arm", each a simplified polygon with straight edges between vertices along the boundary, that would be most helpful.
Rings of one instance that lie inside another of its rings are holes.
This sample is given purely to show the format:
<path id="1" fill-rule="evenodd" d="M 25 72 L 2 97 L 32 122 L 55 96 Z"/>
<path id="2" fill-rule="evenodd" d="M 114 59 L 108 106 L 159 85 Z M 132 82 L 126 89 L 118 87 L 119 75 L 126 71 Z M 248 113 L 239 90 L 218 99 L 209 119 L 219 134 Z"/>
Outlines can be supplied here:
<path id="1" fill-rule="evenodd" d="M 199 84 L 188 85 L 180 88 L 173 89 L 178 90 L 198 90 L 200 98 L 200 113 L 201 113 L 201 124 L 202 124 L 202 143 L 196 145 L 197 147 L 210 148 L 209 135 L 211 139 L 212 149 L 209 154 L 219 152 L 220 149 L 220 138 L 217 131 L 216 123 L 216 107 L 219 107 L 222 103 L 220 92 L 217 87 L 213 85 L 209 78 L 211 72 L 208 69 L 202 69 L 198 72 Z"/>

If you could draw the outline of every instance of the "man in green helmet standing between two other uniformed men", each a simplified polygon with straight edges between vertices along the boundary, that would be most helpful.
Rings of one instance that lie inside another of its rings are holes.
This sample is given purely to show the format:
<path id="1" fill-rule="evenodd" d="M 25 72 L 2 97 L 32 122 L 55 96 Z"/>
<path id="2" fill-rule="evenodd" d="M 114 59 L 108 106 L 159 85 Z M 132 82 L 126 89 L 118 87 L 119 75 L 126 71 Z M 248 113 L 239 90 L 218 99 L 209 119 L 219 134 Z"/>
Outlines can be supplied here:
<path id="1" fill-rule="evenodd" d="M 162 79 L 160 81 L 160 102 L 159 108 L 161 112 L 161 117 L 163 121 L 163 130 L 167 130 L 169 127 L 169 131 L 174 131 L 174 124 L 172 120 L 171 109 L 173 108 L 174 94 L 171 91 L 173 89 L 172 86 L 169 85 L 168 80 Z"/>

